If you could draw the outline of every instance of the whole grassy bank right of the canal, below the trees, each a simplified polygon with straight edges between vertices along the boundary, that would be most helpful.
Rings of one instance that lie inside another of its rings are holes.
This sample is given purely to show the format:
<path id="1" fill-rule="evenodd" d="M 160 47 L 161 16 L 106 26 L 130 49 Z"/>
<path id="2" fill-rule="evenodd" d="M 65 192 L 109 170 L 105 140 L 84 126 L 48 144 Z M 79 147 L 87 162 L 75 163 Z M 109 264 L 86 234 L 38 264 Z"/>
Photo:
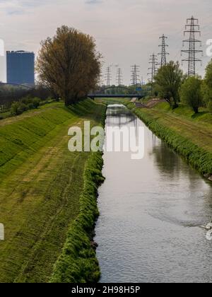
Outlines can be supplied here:
<path id="1" fill-rule="evenodd" d="M 160 139 L 185 158 L 204 177 L 212 180 L 212 115 L 183 105 L 171 110 L 165 102 L 149 107 L 126 106 Z"/>

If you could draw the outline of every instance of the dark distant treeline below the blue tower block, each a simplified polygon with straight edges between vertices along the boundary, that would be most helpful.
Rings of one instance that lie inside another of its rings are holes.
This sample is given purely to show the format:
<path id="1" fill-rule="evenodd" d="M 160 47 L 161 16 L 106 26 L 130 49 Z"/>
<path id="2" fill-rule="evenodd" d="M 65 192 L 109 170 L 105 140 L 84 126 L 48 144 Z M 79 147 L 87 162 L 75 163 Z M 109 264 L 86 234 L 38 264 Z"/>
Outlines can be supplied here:
<path id="1" fill-rule="evenodd" d="M 35 88 L 23 88 L 13 86 L 0 86 L 0 110 L 8 110 L 13 102 L 20 101 L 22 98 L 40 98 L 47 100 L 54 98 L 54 94 L 47 88 L 36 86 Z"/>

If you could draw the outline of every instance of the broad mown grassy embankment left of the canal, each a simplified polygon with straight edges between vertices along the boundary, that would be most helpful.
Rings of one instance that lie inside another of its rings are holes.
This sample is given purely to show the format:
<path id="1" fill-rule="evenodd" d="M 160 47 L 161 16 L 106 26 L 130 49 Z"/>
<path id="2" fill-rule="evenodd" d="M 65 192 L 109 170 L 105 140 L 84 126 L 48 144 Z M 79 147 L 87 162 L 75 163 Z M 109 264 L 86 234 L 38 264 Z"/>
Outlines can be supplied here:
<path id="1" fill-rule="evenodd" d="M 72 110 L 52 103 L 0 121 L 1 282 L 48 282 L 53 272 L 53 281 L 98 279 L 90 240 L 102 158 L 70 153 L 67 132 L 83 120 L 100 124 L 104 115 L 105 106 L 86 100 Z"/>

